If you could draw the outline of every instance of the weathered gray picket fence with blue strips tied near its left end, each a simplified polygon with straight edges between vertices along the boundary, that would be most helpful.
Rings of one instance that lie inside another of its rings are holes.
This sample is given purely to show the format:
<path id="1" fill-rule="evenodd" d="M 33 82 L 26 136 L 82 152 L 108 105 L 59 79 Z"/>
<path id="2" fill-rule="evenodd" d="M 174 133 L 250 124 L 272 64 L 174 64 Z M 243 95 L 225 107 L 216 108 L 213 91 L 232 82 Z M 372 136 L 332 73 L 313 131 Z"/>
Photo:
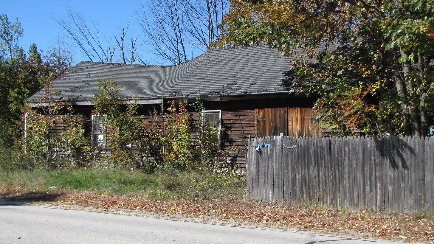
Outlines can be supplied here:
<path id="1" fill-rule="evenodd" d="M 433 213 L 434 138 L 251 138 L 247 198 Z"/>

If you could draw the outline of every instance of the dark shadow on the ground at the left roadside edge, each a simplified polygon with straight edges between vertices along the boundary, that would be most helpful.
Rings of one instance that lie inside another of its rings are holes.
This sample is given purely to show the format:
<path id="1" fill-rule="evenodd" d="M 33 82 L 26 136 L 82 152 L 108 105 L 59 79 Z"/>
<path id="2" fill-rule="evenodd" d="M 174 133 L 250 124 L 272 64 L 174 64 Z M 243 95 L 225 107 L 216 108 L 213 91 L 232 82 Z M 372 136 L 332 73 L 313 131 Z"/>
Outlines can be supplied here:
<path id="1" fill-rule="evenodd" d="M 0 192 L 0 204 L 29 204 L 39 201 L 54 201 L 60 196 L 62 192 L 47 192 L 47 191 L 30 191 L 30 192 L 16 192 L 5 191 Z"/>

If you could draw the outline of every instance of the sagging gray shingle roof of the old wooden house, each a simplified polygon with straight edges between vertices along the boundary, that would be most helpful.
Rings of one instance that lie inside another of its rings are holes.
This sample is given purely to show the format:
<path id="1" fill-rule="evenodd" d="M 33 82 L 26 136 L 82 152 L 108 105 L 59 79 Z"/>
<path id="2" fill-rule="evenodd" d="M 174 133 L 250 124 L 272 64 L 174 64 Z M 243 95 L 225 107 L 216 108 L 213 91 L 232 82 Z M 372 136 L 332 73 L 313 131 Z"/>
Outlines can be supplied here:
<path id="1" fill-rule="evenodd" d="M 236 96 L 288 92 L 287 74 L 293 57 L 286 58 L 268 45 L 248 49 L 210 50 L 174 66 L 93 63 L 83 61 L 53 82 L 56 100 L 92 101 L 98 80 L 115 77 L 123 87 L 121 99 Z M 27 102 L 36 102 L 44 89 Z"/>

